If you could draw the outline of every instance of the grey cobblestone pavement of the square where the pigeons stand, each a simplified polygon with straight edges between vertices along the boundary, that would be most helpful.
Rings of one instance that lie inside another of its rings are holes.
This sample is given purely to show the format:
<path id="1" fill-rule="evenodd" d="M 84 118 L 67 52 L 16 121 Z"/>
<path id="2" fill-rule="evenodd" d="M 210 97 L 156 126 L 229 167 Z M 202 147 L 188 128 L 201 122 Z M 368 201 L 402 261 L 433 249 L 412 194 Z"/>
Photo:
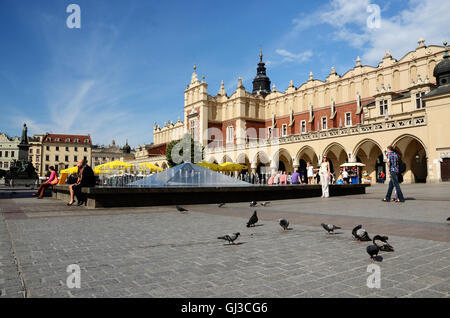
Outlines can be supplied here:
<path id="1" fill-rule="evenodd" d="M 86 210 L 0 189 L 0 297 L 449 297 L 450 185 L 403 188 L 404 204 L 382 203 L 385 186 L 273 201 L 257 208 L 254 228 L 244 203 Z M 283 232 L 280 217 L 293 229 Z M 376 263 L 379 289 L 367 287 L 369 243 L 351 238 L 357 221 L 395 248 Z M 321 222 L 343 230 L 328 235 Z M 232 232 L 239 245 L 217 239 Z M 67 287 L 70 264 L 81 268 L 79 289 Z"/>

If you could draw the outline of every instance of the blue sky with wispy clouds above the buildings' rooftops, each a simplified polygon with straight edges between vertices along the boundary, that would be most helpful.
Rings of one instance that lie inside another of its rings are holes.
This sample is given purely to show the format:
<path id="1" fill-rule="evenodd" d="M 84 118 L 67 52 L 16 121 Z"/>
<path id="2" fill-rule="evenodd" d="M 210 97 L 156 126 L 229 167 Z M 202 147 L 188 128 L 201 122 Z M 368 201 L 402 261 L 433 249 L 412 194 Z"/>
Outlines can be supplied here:
<path id="1" fill-rule="evenodd" d="M 70 4 L 81 28 L 68 28 Z M 376 8 L 379 8 L 377 15 Z M 331 67 L 450 42 L 445 0 L 0 0 L 0 132 L 90 134 L 132 147 L 183 119 L 193 65 L 215 96 L 248 91 L 259 51 L 278 91 Z"/>

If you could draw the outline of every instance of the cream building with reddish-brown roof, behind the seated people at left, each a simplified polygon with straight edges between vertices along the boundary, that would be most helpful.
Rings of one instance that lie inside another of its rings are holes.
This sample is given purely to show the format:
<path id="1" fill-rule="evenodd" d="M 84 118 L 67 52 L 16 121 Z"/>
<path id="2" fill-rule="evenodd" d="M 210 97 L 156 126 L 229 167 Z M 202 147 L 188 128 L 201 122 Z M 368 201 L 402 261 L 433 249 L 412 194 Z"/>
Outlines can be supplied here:
<path id="1" fill-rule="evenodd" d="M 92 165 L 92 140 L 89 135 L 45 134 L 42 138 L 40 176 L 46 176 L 48 168 L 56 171 L 73 167 L 85 159 Z"/>

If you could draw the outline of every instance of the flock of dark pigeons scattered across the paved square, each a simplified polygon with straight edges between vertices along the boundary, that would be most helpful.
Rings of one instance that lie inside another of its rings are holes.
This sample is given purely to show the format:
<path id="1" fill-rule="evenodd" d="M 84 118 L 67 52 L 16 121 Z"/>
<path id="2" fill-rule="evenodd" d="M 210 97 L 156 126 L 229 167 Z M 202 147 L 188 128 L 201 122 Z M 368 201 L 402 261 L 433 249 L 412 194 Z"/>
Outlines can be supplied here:
<path id="1" fill-rule="evenodd" d="M 270 204 L 270 202 L 261 202 L 259 204 L 261 206 L 265 207 L 265 206 L 268 206 Z M 222 208 L 224 205 L 225 205 L 225 203 L 220 203 L 218 205 L 218 207 Z M 250 202 L 250 207 L 255 207 L 257 205 L 258 205 L 258 202 L 256 202 L 256 201 Z M 176 205 L 175 207 L 181 213 L 188 212 L 187 209 L 185 209 L 179 205 Z M 450 217 L 447 219 L 447 221 L 450 221 Z M 255 210 L 255 211 L 253 211 L 253 214 L 250 217 L 250 219 L 248 220 L 246 226 L 247 227 L 255 227 L 256 223 L 258 223 L 258 215 L 257 215 L 257 211 Z M 287 220 L 286 218 L 279 219 L 278 223 L 280 224 L 283 231 L 292 230 L 289 228 L 289 220 Z M 334 224 L 321 223 L 320 225 L 325 229 L 325 231 L 327 231 L 328 234 L 336 234 L 334 231 L 341 229 L 341 227 L 336 226 Z M 236 233 L 219 236 L 219 237 L 217 237 L 217 239 L 225 240 L 228 242 L 229 245 L 237 245 L 235 243 L 235 241 L 239 238 L 240 235 L 241 235 L 241 233 L 236 232 Z M 390 245 L 388 243 L 389 238 L 387 236 L 375 235 L 373 237 L 373 239 L 371 239 L 369 236 L 369 233 L 365 229 L 363 229 L 361 224 L 357 225 L 352 230 L 352 236 L 353 236 L 353 239 L 355 239 L 358 243 L 370 242 L 370 241 L 373 243 L 372 245 L 369 245 L 366 248 L 366 251 L 370 256 L 371 261 L 376 261 L 378 254 L 380 252 L 393 252 L 394 251 L 394 248 L 392 247 L 392 245 Z"/>

